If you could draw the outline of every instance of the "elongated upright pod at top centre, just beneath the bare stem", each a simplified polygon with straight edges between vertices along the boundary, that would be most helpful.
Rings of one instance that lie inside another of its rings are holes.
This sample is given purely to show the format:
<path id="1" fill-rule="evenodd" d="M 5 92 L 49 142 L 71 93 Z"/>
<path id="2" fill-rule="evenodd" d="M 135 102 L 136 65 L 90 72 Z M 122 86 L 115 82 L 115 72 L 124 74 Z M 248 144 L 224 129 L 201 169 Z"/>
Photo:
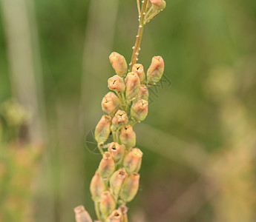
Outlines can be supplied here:
<path id="1" fill-rule="evenodd" d="M 137 98 L 140 90 L 140 78 L 137 73 L 131 72 L 126 75 L 125 78 L 125 97 L 128 101 Z"/>

